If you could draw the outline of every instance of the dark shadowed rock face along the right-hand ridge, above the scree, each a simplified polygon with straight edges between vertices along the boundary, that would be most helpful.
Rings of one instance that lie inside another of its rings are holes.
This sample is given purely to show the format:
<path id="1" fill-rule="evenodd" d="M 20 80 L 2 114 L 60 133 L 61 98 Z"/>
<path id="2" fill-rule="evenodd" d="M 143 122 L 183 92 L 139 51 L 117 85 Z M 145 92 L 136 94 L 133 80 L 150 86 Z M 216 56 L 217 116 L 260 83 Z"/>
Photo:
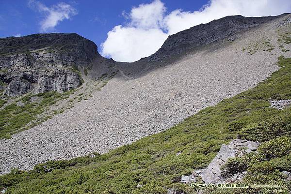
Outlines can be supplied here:
<path id="1" fill-rule="evenodd" d="M 233 36 L 238 35 L 239 32 L 259 26 L 278 17 L 282 17 L 282 15 L 268 17 L 235 15 L 213 20 L 207 24 L 200 24 L 169 36 L 162 47 L 155 54 L 149 56 L 147 60 L 158 61 L 173 54 L 181 53 L 184 50 L 207 45 L 226 37 L 230 37 L 233 40 Z"/>

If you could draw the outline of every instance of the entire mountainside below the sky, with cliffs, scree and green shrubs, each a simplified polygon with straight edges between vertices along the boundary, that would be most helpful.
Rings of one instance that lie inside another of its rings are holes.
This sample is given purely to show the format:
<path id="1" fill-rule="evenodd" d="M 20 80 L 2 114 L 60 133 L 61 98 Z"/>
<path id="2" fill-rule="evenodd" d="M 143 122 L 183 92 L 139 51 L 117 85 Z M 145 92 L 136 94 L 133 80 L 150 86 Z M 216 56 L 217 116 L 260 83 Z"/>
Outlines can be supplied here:
<path id="1" fill-rule="evenodd" d="M 0 38 L 0 189 L 290 188 L 290 50 L 291 14 L 200 24 L 132 63 L 102 57 L 75 33 Z"/>

